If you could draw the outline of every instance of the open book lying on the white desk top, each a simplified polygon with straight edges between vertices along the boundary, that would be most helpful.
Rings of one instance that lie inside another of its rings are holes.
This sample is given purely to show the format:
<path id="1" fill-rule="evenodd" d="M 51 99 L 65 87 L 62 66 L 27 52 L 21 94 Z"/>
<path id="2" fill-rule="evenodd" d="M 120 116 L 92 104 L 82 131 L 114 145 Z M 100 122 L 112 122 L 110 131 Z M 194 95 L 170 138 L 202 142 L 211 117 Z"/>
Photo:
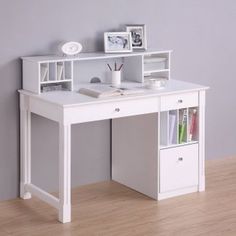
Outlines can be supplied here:
<path id="1" fill-rule="evenodd" d="M 142 89 L 131 89 L 125 87 L 111 87 L 109 85 L 94 85 L 85 88 L 81 88 L 78 91 L 81 94 L 95 97 L 95 98 L 106 98 L 106 97 L 115 97 L 122 95 L 136 95 L 142 94 L 144 91 Z"/>

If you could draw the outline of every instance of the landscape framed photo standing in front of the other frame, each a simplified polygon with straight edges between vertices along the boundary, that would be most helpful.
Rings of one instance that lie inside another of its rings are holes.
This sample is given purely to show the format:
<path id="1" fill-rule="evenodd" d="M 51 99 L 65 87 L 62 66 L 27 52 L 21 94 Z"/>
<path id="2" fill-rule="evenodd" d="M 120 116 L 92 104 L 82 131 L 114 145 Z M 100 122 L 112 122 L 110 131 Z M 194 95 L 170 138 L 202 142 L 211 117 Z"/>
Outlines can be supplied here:
<path id="1" fill-rule="evenodd" d="M 106 53 L 132 52 L 130 32 L 104 33 L 104 48 Z"/>

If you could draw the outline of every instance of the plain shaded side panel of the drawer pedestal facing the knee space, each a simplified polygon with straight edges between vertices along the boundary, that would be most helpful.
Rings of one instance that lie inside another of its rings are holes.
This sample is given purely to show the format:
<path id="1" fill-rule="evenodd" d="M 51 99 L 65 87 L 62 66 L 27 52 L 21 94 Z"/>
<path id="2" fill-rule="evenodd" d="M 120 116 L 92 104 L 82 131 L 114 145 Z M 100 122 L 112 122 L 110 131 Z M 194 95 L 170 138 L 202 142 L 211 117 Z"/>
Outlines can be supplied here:
<path id="1" fill-rule="evenodd" d="M 157 113 L 112 120 L 112 179 L 157 199 Z"/>

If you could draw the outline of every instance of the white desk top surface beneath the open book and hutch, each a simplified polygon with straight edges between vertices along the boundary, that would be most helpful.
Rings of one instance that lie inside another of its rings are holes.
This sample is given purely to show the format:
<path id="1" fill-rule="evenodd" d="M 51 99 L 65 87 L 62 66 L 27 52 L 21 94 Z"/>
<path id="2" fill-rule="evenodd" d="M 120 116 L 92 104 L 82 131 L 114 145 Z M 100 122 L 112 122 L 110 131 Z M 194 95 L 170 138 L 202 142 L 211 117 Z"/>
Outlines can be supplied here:
<path id="1" fill-rule="evenodd" d="M 86 85 L 84 85 L 83 87 L 85 86 Z M 129 88 L 136 88 L 136 89 L 143 88 L 143 93 L 138 94 L 138 95 L 124 95 L 124 96 L 107 97 L 107 98 L 93 98 L 93 97 L 78 93 L 78 89 L 75 91 L 53 91 L 53 92 L 42 93 L 40 95 L 34 94 L 26 90 L 19 90 L 19 92 L 21 94 L 28 95 L 30 97 L 43 100 L 45 102 L 53 103 L 58 106 L 72 107 L 72 106 L 104 103 L 104 102 L 143 99 L 143 98 L 148 98 L 148 97 L 164 96 L 164 95 L 170 95 L 170 94 L 176 94 L 176 93 L 182 93 L 182 92 L 193 92 L 193 91 L 208 89 L 207 86 L 202 86 L 202 85 L 179 81 L 179 80 L 169 80 L 167 81 L 165 88 L 158 89 L 158 90 L 145 89 L 141 83 L 133 83 L 133 82 L 122 83 L 122 86 L 126 86 Z"/>

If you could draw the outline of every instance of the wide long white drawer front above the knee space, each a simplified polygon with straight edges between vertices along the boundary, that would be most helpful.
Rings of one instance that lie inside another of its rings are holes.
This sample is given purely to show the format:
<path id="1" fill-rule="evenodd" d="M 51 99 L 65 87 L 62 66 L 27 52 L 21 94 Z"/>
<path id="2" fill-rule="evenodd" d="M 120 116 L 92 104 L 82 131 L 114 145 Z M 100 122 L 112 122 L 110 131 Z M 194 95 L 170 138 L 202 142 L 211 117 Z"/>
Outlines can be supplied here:
<path id="1" fill-rule="evenodd" d="M 65 122 L 81 123 L 158 112 L 158 98 L 104 102 L 67 108 Z"/>

